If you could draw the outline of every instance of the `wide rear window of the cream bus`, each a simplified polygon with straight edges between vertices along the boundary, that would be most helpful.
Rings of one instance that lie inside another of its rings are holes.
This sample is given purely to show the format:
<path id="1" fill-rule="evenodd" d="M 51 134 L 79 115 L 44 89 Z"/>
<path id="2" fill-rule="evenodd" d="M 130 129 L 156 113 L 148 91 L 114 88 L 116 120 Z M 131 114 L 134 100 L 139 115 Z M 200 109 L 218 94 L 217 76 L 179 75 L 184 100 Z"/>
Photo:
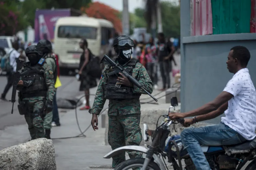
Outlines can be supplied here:
<path id="1" fill-rule="evenodd" d="M 96 39 L 97 28 L 80 26 L 60 26 L 58 28 L 58 37 Z"/>

